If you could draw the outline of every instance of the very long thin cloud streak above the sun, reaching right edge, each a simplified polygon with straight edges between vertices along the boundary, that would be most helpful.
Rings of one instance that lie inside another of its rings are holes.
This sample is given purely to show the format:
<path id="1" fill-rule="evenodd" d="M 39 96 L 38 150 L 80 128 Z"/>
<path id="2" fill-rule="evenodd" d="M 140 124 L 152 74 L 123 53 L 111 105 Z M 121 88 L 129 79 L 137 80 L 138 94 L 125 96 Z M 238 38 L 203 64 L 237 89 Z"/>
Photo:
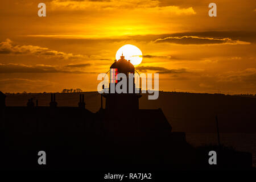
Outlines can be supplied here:
<path id="1" fill-rule="evenodd" d="M 256 42 L 255 32 L 250 31 L 207 31 L 207 32 L 181 32 L 175 34 L 146 34 L 146 35 L 125 35 L 125 36 L 111 36 L 101 37 L 92 35 L 80 35 L 80 34 L 63 34 L 63 35 L 25 35 L 34 38 L 48 38 L 58 39 L 58 41 L 65 41 L 67 43 L 75 42 L 80 44 L 96 44 L 96 43 L 117 43 L 124 41 L 135 42 L 177 42 L 179 44 L 189 44 L 189 40 L 193 44 L 199 43 L 245 43 L 250 44 Z M 183 39 L 181 39 L 183 38 Z"/>

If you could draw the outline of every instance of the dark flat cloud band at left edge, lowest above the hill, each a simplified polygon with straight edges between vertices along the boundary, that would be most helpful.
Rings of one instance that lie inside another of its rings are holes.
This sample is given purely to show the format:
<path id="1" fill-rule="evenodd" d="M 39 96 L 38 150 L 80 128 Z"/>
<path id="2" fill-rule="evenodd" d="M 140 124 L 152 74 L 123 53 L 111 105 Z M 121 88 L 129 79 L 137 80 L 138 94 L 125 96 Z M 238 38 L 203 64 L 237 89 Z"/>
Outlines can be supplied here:
<path id="1" fill-rule="evenodd" d="M 72 71 L 63 69 L 61 67 L 57 68 L 51 65 L 25 65 L 25 64 L 1 64 L 0 63 L 0 73 L 90 73 L 84 71 Z"/>

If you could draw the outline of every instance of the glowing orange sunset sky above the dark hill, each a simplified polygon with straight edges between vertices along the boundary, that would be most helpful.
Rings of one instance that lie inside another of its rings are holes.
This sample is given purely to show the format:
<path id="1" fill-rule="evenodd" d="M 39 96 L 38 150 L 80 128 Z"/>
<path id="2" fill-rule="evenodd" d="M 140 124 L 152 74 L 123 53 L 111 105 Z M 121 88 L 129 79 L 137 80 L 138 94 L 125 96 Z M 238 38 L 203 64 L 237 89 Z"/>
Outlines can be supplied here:
<path id="1" fill-rule="evenodd" d="M 38 3 L 46 3 L 46 17 Z M 256 93 L 256 1 L 1 1 L 0 90 L 97 90 L 118 48 L 143 53 L 159 90 Z"/>

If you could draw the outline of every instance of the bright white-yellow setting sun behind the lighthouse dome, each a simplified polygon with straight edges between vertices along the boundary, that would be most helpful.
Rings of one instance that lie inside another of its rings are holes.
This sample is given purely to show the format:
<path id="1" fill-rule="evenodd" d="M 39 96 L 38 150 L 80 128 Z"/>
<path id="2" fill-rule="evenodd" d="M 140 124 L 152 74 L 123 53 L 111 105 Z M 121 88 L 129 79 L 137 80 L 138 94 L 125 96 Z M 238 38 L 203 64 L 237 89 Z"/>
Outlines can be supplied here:
<path id="1" fill-rule="evenodd" d="M 131 64 L 141 64 L 142 52 L 138 47 L 133 46 L 131 44 L 126 44 L 125 46 L 122 46 L 118 49 L 117 53 L 115 54 L 115 59 L 119 60 L 122 54 L 123 56 L 125 56 L 126 60 L 131 60 Z"/>

